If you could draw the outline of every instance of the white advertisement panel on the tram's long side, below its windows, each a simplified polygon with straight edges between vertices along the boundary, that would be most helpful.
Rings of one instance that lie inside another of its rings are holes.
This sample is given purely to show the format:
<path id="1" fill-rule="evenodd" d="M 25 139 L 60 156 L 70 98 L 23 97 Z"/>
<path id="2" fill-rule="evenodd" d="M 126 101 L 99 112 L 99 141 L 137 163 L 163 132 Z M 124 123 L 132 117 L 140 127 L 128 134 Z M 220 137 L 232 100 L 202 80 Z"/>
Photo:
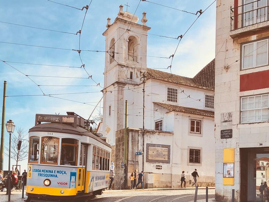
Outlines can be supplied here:
<path id="1" fill-rule="evenodd" d="M 108 182 L 109 182 L 109 173 L 91 171 L 88 192 L 107 188 Z"/>

